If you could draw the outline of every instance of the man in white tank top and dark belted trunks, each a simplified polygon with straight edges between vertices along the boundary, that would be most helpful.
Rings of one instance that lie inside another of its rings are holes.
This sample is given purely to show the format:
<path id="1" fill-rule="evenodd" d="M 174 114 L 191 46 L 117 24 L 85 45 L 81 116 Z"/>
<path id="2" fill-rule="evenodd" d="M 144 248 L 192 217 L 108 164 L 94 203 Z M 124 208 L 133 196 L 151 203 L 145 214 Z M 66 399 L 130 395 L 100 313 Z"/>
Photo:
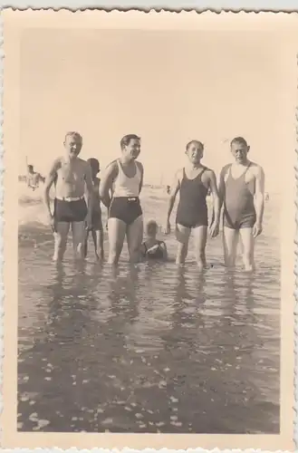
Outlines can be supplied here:
<path id="1" fill-rule="evenodd" d="M 117 265 L 124 238 L 127 237 L 130 262 L 138 262 L 143 238 L 143 217 L 139 192 L 143 184 L 143 166 L 136 159 L 140 139 L 130 134 L 120 140 L 121 157 L 113 160 L 101 178 L 100 196 L 109 209 L 109 264 Z M 110 195 L 110 190 L 112 197 Z"/>

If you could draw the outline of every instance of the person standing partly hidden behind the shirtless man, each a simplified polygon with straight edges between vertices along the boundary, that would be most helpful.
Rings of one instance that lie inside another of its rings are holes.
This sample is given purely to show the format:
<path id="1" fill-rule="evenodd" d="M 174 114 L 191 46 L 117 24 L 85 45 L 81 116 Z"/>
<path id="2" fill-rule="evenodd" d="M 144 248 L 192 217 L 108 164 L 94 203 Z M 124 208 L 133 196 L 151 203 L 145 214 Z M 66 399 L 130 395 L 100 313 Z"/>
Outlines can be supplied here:
<path id="1" fill-rule="evenodd" d="M 100 162 L 98 159 L 88 159 L 87 162 L 91 167 L 91 178 L 93 182 L 93 193 L 91 200 L 91 227 L 87 228 L 84 244 L 84 253 L 87 256 L 88 252 L 88 237 L 91 232 L 95 256 L 98 260 L 103 260 L 103 228 L 101 221 L 101 198 L 100 198 L 100 178 L 97 178 L 97 174 L 100 171 Z"/>

